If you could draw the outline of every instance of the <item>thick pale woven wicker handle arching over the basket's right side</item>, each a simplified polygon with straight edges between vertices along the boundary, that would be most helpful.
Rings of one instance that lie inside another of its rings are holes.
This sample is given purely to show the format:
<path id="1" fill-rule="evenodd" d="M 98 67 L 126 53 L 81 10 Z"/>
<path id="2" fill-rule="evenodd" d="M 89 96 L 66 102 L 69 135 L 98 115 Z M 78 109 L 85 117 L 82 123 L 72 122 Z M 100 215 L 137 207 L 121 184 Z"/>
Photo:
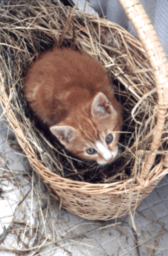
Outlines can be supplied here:
<path id="1" fill-rule="evenodd" d="M 139 0 L 118 0 L 123 7 L 127 17 L 133 23 L 133 27 L 137 31 L 137 35 L 145 48 L 149 58 L 158 97 L 158 115 L 155 135 L 151 143 L 151 152 L 145 159 L 145 164 L 141 173 L 141 178 L 145 179 L 151 170 L 156 157 L 156 151 L 161 143 L 161 136 L 165 125 L 165 115 L 168 109 L 168 62 L 166 54 L 161 47 L 159 38 L 155 29 L 147 15 L 143 5 Z M 168 153 L 165 156 L 168 159 Z"/>

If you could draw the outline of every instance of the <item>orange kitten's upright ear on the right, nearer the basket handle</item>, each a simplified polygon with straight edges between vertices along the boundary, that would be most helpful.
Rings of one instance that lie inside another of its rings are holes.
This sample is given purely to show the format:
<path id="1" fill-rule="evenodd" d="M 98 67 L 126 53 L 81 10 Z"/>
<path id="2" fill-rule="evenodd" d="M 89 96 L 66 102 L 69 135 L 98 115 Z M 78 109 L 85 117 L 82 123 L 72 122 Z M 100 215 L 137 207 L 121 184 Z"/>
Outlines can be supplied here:
<path id="1" fill-rule="evenodd" d="M 107 97 L 102 92 L 99 92 L 93 100 L 91 106 L 91 114 L 93 117 L 102 118 L 115 112 L 111 103 L 109 103 Z"/>

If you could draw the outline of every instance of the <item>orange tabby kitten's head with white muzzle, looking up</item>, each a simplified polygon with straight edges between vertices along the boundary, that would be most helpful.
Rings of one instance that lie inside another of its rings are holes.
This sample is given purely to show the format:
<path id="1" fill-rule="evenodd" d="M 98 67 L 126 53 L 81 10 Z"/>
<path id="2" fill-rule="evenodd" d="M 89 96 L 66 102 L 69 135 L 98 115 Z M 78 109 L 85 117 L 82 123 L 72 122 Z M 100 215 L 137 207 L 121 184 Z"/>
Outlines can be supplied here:
<path id="1" fill-rule="evenodd" d="M 91 104 L 80 111 L 77 109 L 50 130 L 73 155 L 105 165 L 117 156 L 121 123 L 119 103 L 114 98 L 112 105 L 105 94 L 99 92 Z"/>

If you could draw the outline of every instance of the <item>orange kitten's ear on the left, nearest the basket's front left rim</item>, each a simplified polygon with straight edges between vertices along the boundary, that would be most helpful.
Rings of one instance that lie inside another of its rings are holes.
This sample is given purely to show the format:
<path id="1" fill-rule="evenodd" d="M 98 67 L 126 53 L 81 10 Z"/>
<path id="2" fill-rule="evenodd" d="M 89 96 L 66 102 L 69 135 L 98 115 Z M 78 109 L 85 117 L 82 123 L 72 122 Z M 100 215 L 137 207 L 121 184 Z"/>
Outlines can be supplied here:
<path id="1" fill-rule="evenodd" d="M 51 126 L 49 127 L 51 133 L 57 137 L 57 139 L 63 144 L 67 145 L 75 137 L 75 128 L 67 125 L 63 126 Z"/>

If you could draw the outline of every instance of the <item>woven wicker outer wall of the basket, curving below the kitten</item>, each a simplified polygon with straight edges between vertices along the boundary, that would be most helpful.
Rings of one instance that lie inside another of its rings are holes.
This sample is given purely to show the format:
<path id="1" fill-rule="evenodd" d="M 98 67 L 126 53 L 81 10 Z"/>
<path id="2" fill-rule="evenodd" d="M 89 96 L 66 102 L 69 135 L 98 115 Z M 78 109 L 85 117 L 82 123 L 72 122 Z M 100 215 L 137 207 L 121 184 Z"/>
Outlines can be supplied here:
<path id="1" fill-rule="evenodd" d="M 4 87 L 2 86 L 2 89 Z M 1 98 L 3 109 L 7 106 L 8 96 Z M 19 122 L 11 109 L 8 111 L 7 120 L 15 131 L 17 140 L 23 150 L 26 147 L 26 155 L 29 162 L 41 176 L 51 196 L 59 200 L 60 208 L 63 207 L 69 212 L 87 218 L 89 220 L 110 220 L 121 218 L 129 214 L 139 206 L 141 200 L 151 193 L 159 180 L 165 176 L 167 169 L 163 170 L 163 162 L 160 162 L 143 183 L 134 178 L 111 184 L 89 184 L 87 182 L 76 182 L 62 178 L 54 174 L 41 162 L 38 161 L 35 151 L 25 141 L 25 135 L 21 131 Z"/>

